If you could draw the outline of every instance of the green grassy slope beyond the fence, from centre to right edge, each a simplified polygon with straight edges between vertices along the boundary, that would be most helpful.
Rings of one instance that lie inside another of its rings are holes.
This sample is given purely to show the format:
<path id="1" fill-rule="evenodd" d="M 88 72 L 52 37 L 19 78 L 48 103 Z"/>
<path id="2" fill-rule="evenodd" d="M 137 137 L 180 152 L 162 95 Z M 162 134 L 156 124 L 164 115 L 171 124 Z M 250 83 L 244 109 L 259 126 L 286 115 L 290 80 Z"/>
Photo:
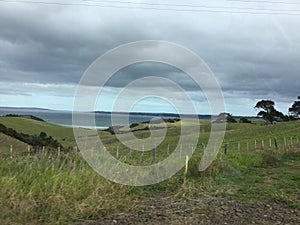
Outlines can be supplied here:
<path id="1" fill-rule="evenodd" d="M 167 156 L 167 149 L 174 149 L 178 144 L 178 138 L 180 136 L 180 126 L 190 127 L 190 133 L 194 132 L 195 127 L 192 127 L 192 121 L 187 120 L 177 123 L 168 123 L 168 132 L 164 141 L 157 147 L 158 159 L 163 159 Z M 138 138 L 147 138 L 150 136 L 149 130 L 144 130 L 146 124 L 139 125 L 132 128 L 134 135 Z M 156 127 L 163 128 L 162 125 L 155 125 Z M 210 135 L 210 122 L 200 122 L 200 136 L 197 145 L 196 156 L 200 157 L 203 153 L 204 147 L 208 142 Z M 127 129 L 128 130 L 128 129 Z M 120 156 L 127 156 L 128 159 L 130 149 L 120 143 L 120 141 L 108 132 L 99 132 L 101 140 L 108 146 L 108 149 L 114 156 L 117 155 L 117 149 Z M 126 134 L 124 134 L 126 135 Z M 121 135 L 122 137 L 122 135 Z M 241 152 L 255 151 L 255 150 L 275 150 L 275 140 L 278 151 L 288 151 L 288 149 L 299 147 L 300 142 L 300 121 L 291 121 L 285 123 L 278 123 L 276 125 L 261 125 L 261 124 L 240 124 L 240 123 L 228 123 L 225 133 L 225 139 L 223 141 L 223 147 L 220 151 L 224 150 L 225 144 L 228 145 L 229 152 Z M 271 143 L 270 143 L 271 141 Z M 130 140 L 126 140 L 130 142 Z M 142 146 L 141 146 L 142 148 Z M 189 143 L 182 146 L 184 150 L 191 149 Z M 141 152 L 135 153 L 135 159 L 141 157 Z M 152 156 L 152 152 L 145 153 L 149 157 Z M 134 157 L 133 157 L 134 158 Z M 149 163 L 152 163 L 149 160 Z"/>

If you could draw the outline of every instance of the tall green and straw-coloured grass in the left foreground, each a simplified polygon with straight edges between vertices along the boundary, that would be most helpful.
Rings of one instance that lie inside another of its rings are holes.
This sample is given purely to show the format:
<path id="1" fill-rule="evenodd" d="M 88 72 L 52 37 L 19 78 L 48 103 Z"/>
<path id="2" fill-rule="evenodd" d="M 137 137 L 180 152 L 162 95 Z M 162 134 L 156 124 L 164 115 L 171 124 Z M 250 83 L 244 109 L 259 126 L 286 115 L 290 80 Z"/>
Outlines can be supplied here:
<path id="1" fill-rule="evenodd" d="M 130 188 L 95 173 L 79 156 L 0 159 L 1 224 L 61 224 L 126 211 Z"/>

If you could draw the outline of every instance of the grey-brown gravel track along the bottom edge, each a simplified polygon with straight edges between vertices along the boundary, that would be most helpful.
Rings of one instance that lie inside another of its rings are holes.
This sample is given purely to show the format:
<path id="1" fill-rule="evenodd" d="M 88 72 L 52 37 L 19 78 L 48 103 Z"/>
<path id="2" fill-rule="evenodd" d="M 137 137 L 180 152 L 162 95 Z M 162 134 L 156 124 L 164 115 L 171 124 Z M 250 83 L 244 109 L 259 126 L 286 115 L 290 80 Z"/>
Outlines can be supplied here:
<path id="1" fill-rule="evenodd" d="M 155 196 L 140 201 L 134 212 L 76 225 L 127 224 L 262 224 L 299 225 L 300 210 L 271 201 L 200 200 Z"/>

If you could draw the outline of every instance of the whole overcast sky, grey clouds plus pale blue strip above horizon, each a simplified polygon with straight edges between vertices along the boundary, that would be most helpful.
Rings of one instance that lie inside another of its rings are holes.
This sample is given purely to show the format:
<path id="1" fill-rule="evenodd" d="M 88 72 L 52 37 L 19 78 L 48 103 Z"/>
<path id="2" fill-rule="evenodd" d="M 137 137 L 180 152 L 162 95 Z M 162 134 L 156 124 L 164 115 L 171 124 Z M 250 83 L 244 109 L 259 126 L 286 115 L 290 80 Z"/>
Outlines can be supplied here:
<path id="1" fill-rule="evenodd" d="M 227 111 L 234 115 L 255 115 L 253 106 L 261 99 L 274 100 L 287 113 L 300 95 L 300 3 L 295 1 L 39 2 L 59 4 L 0 1 L 0 106 L 72 110 L 88 66 L 121 44 L 141 40 L 174 42 L 198 54 L 215 74 Z M 97 110 L 111 110 L 116 93 L 144 76 L 176 81 L 199 113 L 210 113 L 201 89 L 186 74 L 155 63 L 132 65 L 115 74 Z M 150 83 L 133 88 L 130 95 L 146 88 L 157 96 L 173 91 Z M 120 96 L 124 104 L 130 95 Z M 174 101 L 183 101 L 174 96 Z M 184 108 L 185 102 L 181 105 Z M 131 108 L 173 111 L 159 98 L 144 99 Z"/>

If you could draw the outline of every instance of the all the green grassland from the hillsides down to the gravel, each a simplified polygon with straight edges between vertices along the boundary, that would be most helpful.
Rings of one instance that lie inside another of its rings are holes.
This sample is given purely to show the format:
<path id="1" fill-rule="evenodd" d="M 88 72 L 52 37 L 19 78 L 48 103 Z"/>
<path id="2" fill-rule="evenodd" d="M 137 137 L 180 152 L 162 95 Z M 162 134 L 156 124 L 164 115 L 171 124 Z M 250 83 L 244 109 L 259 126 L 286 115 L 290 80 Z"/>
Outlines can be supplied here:
<path id="1" fill-rule="evenodd" d="M 38 135 L 43 131 L 66 146 L 75 145 L 70 128 L 26 118 L 2 117 L 0 123 L 29 134 Z M 198 165 L 209 137 L 210 123 L 200 123 L 199 142 L 189 161 L 188 173 L 182 169 L 172 178 L 151 186 L 130 187 L 112 183 L 91 169 L 79 153 L 72 151 L 60 156 L 45 152 L 13 159 L 0 158 L 0 224 L 70 224 L 97 220 L 134 210 L 139 199 L 155 194 L 174 198 L 201 198 L 205 194 L 242 200 L 268 199 L 300 209 L 300 148 L 297 146 L 300 121 L 272 126 L 227 124 L 223 146 L 204 172 L 198 171 Z M 192 124 L 190 120 L 167 124 L 167 136 L 157 146 L 157 161 L 168 156 L 168 146 L 170 154 L 177 145 L 181 125 L 193 132 L 195 127 Z M 150 131 L 144 130 L 145 126 L 132 128 L 134 135 L 148 137 Z M 99 131 L 99 136 L 113 156 L 117 156 L 118 149 L 121 161 L 133 165 L 153 163 L 152 152 L 144 154 L 144 161 L 141 161 L 141 152 L 135 152 L 129 158 L 129 149 L 115 135 Z M 275 149 L 274 138 L 278 149 Z M 229 146 L 228 154 L 223 151 L 225 143 Z M 10 144 L 26 147 L 26 144 L 0 134 L 1 152 L 7 152 L 6 146 Z M 189 151 L 189 148 L 188 143 L 183 146 L 184 150 Z"/>

